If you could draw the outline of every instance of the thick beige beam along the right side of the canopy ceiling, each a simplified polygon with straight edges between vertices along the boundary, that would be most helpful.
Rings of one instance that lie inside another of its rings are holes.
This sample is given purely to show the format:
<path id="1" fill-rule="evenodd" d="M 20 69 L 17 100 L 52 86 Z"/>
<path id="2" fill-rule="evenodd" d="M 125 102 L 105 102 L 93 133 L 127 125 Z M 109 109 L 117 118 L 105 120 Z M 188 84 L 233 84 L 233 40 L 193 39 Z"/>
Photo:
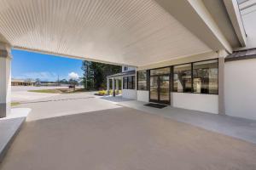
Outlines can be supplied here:
<path id="1" fill-rule="evenodd" d="M 201 0 L 155 0 L 155 2 L 212 50 L 225 49 L 232 53 L 230 43 Z"/>

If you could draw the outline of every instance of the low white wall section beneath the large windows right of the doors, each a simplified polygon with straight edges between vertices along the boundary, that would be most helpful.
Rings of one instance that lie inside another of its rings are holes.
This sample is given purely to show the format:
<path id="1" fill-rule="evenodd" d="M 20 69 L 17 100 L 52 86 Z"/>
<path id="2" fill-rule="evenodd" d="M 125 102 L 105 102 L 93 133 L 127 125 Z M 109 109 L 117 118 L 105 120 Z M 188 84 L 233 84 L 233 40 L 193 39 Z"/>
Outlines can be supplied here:
<path id="1" fill-rule="evenodd" d="M 171 93 L 172 106 L 218 114 L 218 95 Z"/>

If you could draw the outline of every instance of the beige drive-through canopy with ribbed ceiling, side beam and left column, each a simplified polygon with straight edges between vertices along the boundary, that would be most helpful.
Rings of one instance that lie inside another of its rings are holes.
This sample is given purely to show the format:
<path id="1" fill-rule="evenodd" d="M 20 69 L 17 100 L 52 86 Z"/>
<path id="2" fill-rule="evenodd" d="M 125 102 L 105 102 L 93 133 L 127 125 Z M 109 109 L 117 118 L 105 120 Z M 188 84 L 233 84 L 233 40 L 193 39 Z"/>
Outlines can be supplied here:
<path id="1" fill-rule="evenodd" d="M 225 57 L 245 45 L 236 9 L 220 0 L 1 0 L 0 116 L 10 112 L 11 48 L 136 67 Z"/>

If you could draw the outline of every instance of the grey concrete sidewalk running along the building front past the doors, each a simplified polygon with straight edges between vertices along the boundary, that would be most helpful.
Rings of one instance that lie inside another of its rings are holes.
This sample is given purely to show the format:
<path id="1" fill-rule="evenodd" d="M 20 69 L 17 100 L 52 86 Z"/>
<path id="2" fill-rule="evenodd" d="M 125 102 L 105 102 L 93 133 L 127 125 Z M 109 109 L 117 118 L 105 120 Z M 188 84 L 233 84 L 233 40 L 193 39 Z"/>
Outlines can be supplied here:
<path id="1" fill-rule="evenodd" d="M 158 116 L 165 116 L 178 122 L 186 122 L 196 127 L 202 127 L 216 133 L 222 133 L 256 144 L 256 121 L 254 120 L 232 116 L 221 116 L 202 111 L 191 111 L 180 108 L 173 108 L 171 106 L 165 107 L 163 109 L 156 109 L 145 106 L 145 104 L 147 104 L 145 102 L 131 99 L 122 99 L 121 97 L 115 97 L 115 99 L 112 98 L 113 97 L 102 99 L 108 100 L 110 102 L 114 101 L 114 103 L 117 105 L 131 107 L 133 109 Z"/>

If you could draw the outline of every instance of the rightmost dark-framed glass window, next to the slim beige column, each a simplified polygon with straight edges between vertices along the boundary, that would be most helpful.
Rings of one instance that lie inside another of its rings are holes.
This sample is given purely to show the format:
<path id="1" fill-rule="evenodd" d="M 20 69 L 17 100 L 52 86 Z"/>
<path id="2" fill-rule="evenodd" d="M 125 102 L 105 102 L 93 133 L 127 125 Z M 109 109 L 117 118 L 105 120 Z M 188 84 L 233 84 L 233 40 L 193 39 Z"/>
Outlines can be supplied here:
<path id="1" fill-rule="evenodd" d="M 218 59 L 193 64 L 193 88 L 197 94 L 218 94 Z"/>

